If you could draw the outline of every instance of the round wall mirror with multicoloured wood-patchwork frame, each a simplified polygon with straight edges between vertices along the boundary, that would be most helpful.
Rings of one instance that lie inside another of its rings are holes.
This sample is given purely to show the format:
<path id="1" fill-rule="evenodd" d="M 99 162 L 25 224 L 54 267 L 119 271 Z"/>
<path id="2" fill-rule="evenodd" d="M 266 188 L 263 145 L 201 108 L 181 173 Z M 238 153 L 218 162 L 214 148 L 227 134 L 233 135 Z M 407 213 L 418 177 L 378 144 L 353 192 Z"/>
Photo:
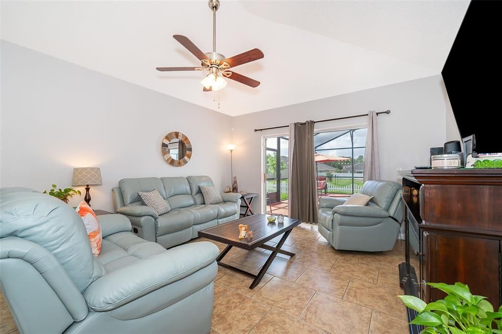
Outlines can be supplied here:
<path id="1" fill-rule="evenodd" d="M 160 149 L 164 160 L 175 167 L 185 165 L 192 157 L 192 143 L 186 135 L 178 131 L 166 134 Z"/>

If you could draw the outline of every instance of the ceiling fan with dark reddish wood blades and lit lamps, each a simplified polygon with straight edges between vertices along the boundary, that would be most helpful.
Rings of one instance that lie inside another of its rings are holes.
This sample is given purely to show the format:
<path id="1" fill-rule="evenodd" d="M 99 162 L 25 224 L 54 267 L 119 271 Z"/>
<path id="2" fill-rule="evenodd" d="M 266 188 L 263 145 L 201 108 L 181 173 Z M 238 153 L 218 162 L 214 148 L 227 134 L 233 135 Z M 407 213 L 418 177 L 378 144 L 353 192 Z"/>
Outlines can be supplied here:
<path id="1" fill-rule="evenodd" d="M 260 81 L 248 78 L 234 71 L 229 71 L 238 65 L 249 63 L 264 57 L 260 49 L 253 49 L 236 56 L 225 58 L 216 52 L 216 11 L 220 6 L 219 0 L 209 0 L 209 8 L 213 12 L 213 51 L 203 53 L 188 38 L 182 35 L 173 35 L 174 39 L 180 42 L 188 51 L 190 51 L 200 62 L 200 67 L 157 67 L 158 71 L 208 71 L 209 74 L 200 82 L 204 92 L 220 90 L 226 86 L 223 77 L 243 83 L 250 87 L 258 87 Z"/>

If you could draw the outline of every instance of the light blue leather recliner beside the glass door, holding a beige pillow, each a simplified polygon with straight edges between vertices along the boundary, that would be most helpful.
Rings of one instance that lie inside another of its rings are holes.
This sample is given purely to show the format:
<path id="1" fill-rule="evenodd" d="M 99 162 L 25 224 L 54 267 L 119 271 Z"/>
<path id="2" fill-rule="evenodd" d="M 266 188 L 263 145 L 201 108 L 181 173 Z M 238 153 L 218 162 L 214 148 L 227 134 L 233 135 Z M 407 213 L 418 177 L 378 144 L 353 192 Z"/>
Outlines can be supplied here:
<path id="1" fill-rule="evenodd" d="M 404 217 L 401 185 L 394 181 L 366 181 L 361 194 L 373 196 L 367 206 L 343 205 L 346 198 L 322 197 L 319 233 L 338 250 L 392 250 Z"/>

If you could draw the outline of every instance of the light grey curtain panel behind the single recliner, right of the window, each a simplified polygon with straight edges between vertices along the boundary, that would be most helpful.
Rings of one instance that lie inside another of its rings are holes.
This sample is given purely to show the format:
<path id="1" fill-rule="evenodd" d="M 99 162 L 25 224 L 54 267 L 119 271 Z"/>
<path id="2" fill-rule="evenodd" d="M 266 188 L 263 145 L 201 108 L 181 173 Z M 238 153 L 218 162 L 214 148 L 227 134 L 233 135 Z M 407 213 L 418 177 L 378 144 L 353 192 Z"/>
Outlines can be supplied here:
<path id="1" fill-rule="evenodd" d="M 364 149 L 364 181 L 368 180 L 380 180 L 378 130 L 374 110 L 368 112 L 368 131 L 366 133 L 366 148 Z"/>

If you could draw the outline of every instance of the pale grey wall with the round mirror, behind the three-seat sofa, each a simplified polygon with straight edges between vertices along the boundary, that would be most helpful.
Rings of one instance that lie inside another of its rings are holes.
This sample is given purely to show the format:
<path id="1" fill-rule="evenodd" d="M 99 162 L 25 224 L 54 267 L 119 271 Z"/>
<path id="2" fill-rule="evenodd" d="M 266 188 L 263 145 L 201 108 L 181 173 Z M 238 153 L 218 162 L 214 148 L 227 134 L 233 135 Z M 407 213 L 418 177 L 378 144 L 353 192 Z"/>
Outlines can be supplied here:
<path id="1" fill-rule="evenodd" d="M 110 190 L 122 178 L 209 175 L 218 187 L 230 183 L 230 116 L 5 41 L 1 48 L 0 186 L 69 187 L 73 167 L 99 166 L 103 185 L 91 188 L 91 205 L 111 210 Z M 160 153 L 171 131 L 192 142 L 181 168 Z"/>

